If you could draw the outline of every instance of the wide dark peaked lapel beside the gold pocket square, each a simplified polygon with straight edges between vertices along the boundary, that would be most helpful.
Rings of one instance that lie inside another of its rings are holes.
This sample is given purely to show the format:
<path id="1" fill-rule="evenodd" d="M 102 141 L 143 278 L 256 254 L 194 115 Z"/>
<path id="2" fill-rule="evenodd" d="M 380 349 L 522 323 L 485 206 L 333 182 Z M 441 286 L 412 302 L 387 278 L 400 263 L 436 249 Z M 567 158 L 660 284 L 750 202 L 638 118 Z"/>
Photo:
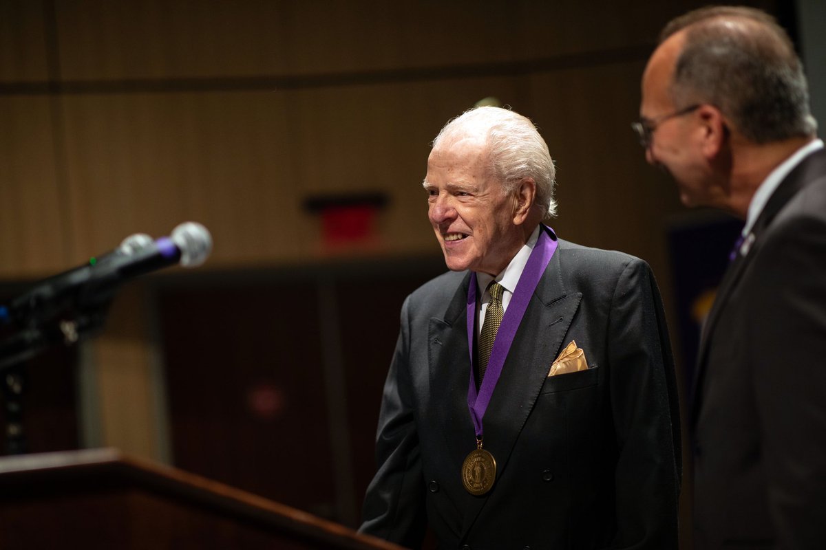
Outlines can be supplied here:
<path id="1" fill-rule="evenodd" d="M 539 280 L 483 418 L 484 447 L 496 458 L 497 479 L 506 472 L 516 440 L 539 397 L 548 369 L 563 346 L 563 338 L 582 299 L 582 294 L 566 294 L 560 270 L 561 256 L 558 251 L 553 255 Z M 467 382 L 466 379 L 466 386 Z M 487 495 L 472 499 L 464 516 L 462 538 L 495 492 L 496 485 Z"/>

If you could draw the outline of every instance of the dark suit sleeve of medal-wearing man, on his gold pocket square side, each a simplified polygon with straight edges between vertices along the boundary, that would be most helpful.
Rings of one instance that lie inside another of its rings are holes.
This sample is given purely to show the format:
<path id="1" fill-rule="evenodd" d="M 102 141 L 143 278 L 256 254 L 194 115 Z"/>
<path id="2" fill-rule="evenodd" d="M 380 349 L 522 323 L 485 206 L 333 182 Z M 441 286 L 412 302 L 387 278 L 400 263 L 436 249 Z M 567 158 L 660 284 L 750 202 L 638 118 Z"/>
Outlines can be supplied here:
<path id="1" fill-rule="evenodd" d="M 657 284 L 634 259 L 609 318 L 610 398 L 618 460 L 613 548 L 677 548 L 681 440 L 676 374 Z"/>

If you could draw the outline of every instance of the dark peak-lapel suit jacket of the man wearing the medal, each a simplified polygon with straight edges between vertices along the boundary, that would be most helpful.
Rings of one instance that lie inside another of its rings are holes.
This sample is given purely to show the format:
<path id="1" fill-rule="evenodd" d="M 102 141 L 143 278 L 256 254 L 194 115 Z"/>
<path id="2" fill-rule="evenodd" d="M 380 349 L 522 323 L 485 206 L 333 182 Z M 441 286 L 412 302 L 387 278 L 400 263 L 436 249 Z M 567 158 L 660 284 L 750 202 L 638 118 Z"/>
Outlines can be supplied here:
<path id="1" fill-rule="evenodd" d="M 401 312 L 363 532 L 416 548 L 676 548 L 680 436 L 672 353 L 648 265 L 560 241 L 484 417 L 496 485 L 463 488 L 470 274 L 417 289 Z M 590 369 L 546 378 L 568 342 Z"/>

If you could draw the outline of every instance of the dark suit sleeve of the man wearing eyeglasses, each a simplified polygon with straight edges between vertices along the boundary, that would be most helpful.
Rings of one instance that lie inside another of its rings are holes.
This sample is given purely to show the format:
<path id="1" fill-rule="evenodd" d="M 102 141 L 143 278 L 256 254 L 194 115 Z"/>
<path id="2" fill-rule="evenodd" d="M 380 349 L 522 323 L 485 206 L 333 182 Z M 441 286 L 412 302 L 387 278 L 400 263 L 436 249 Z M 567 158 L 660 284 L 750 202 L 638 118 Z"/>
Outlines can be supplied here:
<path id="1" fill-rule="evenodd" d="M 807 200 L 811 208 L 824 201 Z M 755 259 L 747 337 L 778 548 L 826 545 L 826 222 L 782 223 Z"/>

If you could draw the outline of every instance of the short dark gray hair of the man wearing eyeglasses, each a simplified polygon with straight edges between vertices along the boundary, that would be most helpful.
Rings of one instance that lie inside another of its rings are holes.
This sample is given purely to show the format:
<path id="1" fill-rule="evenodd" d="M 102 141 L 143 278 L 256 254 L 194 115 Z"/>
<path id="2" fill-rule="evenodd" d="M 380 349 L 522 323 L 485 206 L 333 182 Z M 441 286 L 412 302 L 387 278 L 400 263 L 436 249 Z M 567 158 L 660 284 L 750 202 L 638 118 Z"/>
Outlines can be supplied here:
<path id="1" fill-rule="evenodd" d="M 700 8 L 668 23 L 660 42 L 683 29 L 675 105 L 710 103 L 754 143 L 815 134 L 802 63 L 773 17 L 749 7 Z"/>

